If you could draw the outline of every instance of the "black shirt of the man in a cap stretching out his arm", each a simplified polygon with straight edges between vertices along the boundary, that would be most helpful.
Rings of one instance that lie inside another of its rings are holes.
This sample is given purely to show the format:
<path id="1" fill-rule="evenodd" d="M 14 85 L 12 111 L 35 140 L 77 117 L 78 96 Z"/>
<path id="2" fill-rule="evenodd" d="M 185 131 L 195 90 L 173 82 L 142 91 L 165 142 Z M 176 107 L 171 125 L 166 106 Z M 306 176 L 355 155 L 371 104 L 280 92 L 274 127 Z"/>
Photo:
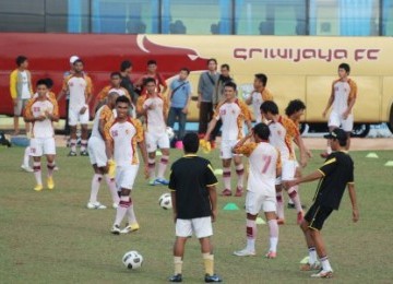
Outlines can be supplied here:
<path id="1" fill-rule="evenodd" d="M 346 186 L 354 184 L 354 161 L 345 152 L 333 152 L 319 171 L 323 178 L 318 185 L 313 201 L 338 210 Z"/>

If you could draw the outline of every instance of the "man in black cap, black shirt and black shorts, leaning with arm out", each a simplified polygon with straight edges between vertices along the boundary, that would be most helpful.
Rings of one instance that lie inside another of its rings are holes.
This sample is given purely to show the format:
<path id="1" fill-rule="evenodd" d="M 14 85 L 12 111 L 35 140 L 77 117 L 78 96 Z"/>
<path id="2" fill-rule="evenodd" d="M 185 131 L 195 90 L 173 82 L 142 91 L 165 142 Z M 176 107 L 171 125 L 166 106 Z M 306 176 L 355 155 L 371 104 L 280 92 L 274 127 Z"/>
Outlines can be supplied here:
<path id="1" fill-rule="evenodd" d="M 312 274 L 311 277 L 333 276 L 333 269 L 329 262 L 321 229 L 323 223 L 327 220 L 333 210 L 338 210 L 346 187 L 348 187 L 353 208 L 353 221 L 357 222 L 359 220 L 354 184 L 354 162 L 345 152 L 348 137 L 344 130 L 336 128 L 330 132 L 330 134 L 325 135 L 325 138 L 329 139 L 333 150 L 325 163 L 312 174 L 285 184 L 286 188 L 290 188 L 302 182 L 309 182 L 317 179 L 320 180 L 314 194 L 313 204 L 310 206 L 300 225 L 309 251 L 309 262 L 302 265 L 300 270 L 319 270 L 319 272 Z"/>

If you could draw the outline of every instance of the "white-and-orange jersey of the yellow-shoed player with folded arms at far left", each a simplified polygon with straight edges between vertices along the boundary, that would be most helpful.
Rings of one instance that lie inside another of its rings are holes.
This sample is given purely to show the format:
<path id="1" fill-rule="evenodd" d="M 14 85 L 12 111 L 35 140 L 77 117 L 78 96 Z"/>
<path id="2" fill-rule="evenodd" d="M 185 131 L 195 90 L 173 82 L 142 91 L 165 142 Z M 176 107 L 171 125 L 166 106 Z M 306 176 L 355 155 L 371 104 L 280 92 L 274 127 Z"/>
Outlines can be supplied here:
<path id="1" fill-rule="evenodd" d="M 28 100 L 25 117 L 38 118 L 45 116 L 45 114 L 51 114 L 53 116 L 59 115 L 59 107 L 56 99 L 48 98 L 45 100 L 38 100 L 38 98 L 32 98 Z M 43 121 L 34 121 L 32 128 L 32 138 L 52 138 L 55 135 L 52 121 L 47 118 Z"/>

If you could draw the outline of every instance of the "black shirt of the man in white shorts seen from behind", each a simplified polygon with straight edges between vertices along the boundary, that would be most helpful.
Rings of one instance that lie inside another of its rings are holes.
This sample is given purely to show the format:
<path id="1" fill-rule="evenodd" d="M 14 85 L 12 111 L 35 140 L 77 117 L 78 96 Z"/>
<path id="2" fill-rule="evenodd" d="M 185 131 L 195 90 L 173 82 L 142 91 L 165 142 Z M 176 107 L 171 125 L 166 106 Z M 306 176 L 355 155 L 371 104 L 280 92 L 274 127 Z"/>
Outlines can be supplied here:
<path id="1" fill-rule="evenodd" d="M 210 186 L 217 184 L 211 163 L 196 155 L 184 155 L 170 168 L 169 189 L 176 192 L 178 218 L 212 215 Z"/>

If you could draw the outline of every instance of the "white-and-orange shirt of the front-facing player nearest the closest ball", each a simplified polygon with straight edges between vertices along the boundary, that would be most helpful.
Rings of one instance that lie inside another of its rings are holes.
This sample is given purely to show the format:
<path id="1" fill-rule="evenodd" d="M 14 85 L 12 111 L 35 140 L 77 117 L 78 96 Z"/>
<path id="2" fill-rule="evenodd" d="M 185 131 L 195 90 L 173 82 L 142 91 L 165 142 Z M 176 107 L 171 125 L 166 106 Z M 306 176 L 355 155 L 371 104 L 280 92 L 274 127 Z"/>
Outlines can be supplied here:
<path id="1" fill-rule="evenodd" d="M 120 122 L 114 119 L 105 125 L 105 140 L 114 143 L 114 159 L 118 166 L 139 164 L 136 143 L 144 139 L 141 121 L 129 117 Z"/>

